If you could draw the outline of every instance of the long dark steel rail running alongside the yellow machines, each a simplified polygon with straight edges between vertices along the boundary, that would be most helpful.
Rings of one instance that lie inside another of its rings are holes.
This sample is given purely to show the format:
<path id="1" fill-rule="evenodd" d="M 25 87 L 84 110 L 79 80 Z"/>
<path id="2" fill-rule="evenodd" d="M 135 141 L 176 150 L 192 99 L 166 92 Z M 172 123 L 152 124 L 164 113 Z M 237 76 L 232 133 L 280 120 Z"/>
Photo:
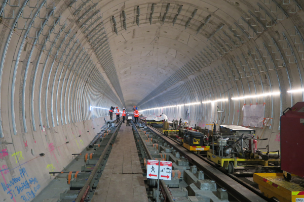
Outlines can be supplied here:
<path id="1" fill-rule="evenodd" d="M 145 124 L 139 119 L 142 124 Z M 222 168 L 219 168 L 215 163 L 209 161 L 207 158 L 192 153 L 183 146 L 180 145 L 178 141 L 170 138 L 164 133 L 160 132 L 154 127 L 147 126 L 147 128 L 162 138 L 170 146 L 176 149 L 180 155 L 184 156 L 193 165 L 196 165 L 200 170 L 202 170 L 208 177 L 214 179 L 220 187 L 224 187 L 227 192 L 234 196 L 239 201 L 271 201 L 276 200 L 270 199 L 264 196 L 259 189 L 253 187 L 251 184 L 246 183 L 241 177 L 248 177 L 246 175 L 234 175 L 226 173 Z M 249 176 L 250 177 L 250 176 Z"/>

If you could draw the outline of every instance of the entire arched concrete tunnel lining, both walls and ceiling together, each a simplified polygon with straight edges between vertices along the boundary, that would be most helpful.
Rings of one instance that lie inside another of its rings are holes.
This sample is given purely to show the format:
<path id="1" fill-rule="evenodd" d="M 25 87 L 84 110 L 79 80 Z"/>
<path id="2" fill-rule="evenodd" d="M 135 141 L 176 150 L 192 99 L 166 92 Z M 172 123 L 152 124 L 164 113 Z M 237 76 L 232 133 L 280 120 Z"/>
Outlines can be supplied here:
<path id="1" fill-rule="evenodd" d="M 257 148 L 280 153 L 281 116 L 304 102 L 303 7 L 2 0 L 0 201 L 59 199 L 64 190 L 49 187 L 65 178 L 50 173 L 70 171 L 75 156 L 110 132 L 110 107 L 193 129 L 243 126 L 265 139 Z"/>

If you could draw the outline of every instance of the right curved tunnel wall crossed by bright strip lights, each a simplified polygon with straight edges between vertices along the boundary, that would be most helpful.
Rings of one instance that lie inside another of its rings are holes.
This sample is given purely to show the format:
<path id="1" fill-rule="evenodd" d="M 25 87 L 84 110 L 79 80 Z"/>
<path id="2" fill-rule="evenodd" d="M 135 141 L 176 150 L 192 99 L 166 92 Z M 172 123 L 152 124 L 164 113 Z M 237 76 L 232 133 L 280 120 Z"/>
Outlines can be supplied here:
<path id="1" fill-rule="evenodd" d="M 182 118 L 207 128 L 213 122 L 242 125 L 243 106 L 261 104 L 271 126 L 263 133 L 269 140 L 259 141 L 258 146 L 269 144 L 271 150 L 280 149 L 280 116 L 286 108 L 303 101 L 302 91 L 287 91 L 303 88 L 304 16 L 302 1 L 294 1 L 294 5 L 279 2 L 276 15 L 271 12 L 274 3 L 252 2 L 253 10 L 249 7 L 249 13 L 237 22 L 219 26 L 207 37 L 207 46 L 200 53 L 139 103 L 141 113 L 164 113 L 169 120 Z M 267 13 L 265 18 L 262 13 Z M 232 99 L 243 96 L 252 97 Z M 227 101 L 202 103 L 218 99 Z M 192 103 L 198 104 L 183 106 Z M 144 111 L 176 105 L 181 106 Z M 217 113 L 217 106 L 224 113 Z M 260 136 L 262 129 L 254 129 Z"/>

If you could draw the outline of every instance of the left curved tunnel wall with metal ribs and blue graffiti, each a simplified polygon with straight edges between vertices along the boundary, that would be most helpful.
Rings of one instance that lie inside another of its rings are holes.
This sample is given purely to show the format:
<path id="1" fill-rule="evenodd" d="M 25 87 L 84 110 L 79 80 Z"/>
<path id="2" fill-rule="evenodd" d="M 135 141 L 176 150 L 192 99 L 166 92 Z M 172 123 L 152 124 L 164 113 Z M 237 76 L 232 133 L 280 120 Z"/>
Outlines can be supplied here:
<path id="1" fill-rule="evenodd" d="M 123 106 L 85 37 L 100 37 L 96 21 L 75 23 L 67 4 L 1 4 L 1 201 L 32 200 L 100 132 L 109 107 Z"/>

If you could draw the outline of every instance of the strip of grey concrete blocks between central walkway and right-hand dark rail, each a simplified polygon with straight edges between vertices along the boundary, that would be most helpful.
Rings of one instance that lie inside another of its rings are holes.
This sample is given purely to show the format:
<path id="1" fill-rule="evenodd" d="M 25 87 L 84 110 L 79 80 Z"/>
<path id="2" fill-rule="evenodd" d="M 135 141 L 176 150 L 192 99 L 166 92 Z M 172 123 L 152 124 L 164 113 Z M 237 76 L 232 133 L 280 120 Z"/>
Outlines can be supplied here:
<path id="1" fill-rule="evenodd" d="M 218 170 L 213 168 L 211 175 L 205 172 L 202 165 L 189 161 L 192 159 L 188 158 L 183 151 L 179 151 L 149 128 L 137 128 L 134 125 L 134 130 L 138 133 L 138 139 L 141 142 L 139 149 L 143 157 L 143 169 L 145 169 L 147 159 L 172 162 L 172 180 L 161 180 L 165 187 L 159 196 L 162 201 L 265 201 L 254 193 L 251 193 L 252 197 L 249 198 L 243 196 L 242 189 L 239 189 L 237 194 L 228 191 L 224 187 L 236 189 L 239 184 L 233 182 L 222 186 L 224 179 L 220 179 L 221 175 L 217 175 Z M 157 181 L 147 179 L 147 184 L 155 186 Z M 153 201 L 156 198 L 156 190 L 153 189 Z M 246 195 L 246 192 L 243 194 Z"/>

